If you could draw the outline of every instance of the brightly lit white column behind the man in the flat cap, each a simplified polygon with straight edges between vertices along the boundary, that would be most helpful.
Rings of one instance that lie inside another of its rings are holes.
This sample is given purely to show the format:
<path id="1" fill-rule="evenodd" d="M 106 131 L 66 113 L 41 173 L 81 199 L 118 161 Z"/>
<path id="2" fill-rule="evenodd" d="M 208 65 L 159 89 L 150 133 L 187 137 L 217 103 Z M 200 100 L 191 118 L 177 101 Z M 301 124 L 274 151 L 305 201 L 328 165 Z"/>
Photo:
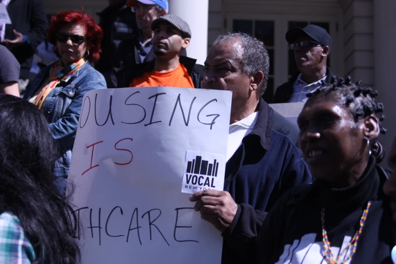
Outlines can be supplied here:
<path id="1" fill-rule="evenodd" d="M 190 46 L 187 56 L 197 59 L 203 65 L 208 45 L 209 0 L 169 0 L 169 14 L 177 15 L 186 21 L 191 29 Z"/>

